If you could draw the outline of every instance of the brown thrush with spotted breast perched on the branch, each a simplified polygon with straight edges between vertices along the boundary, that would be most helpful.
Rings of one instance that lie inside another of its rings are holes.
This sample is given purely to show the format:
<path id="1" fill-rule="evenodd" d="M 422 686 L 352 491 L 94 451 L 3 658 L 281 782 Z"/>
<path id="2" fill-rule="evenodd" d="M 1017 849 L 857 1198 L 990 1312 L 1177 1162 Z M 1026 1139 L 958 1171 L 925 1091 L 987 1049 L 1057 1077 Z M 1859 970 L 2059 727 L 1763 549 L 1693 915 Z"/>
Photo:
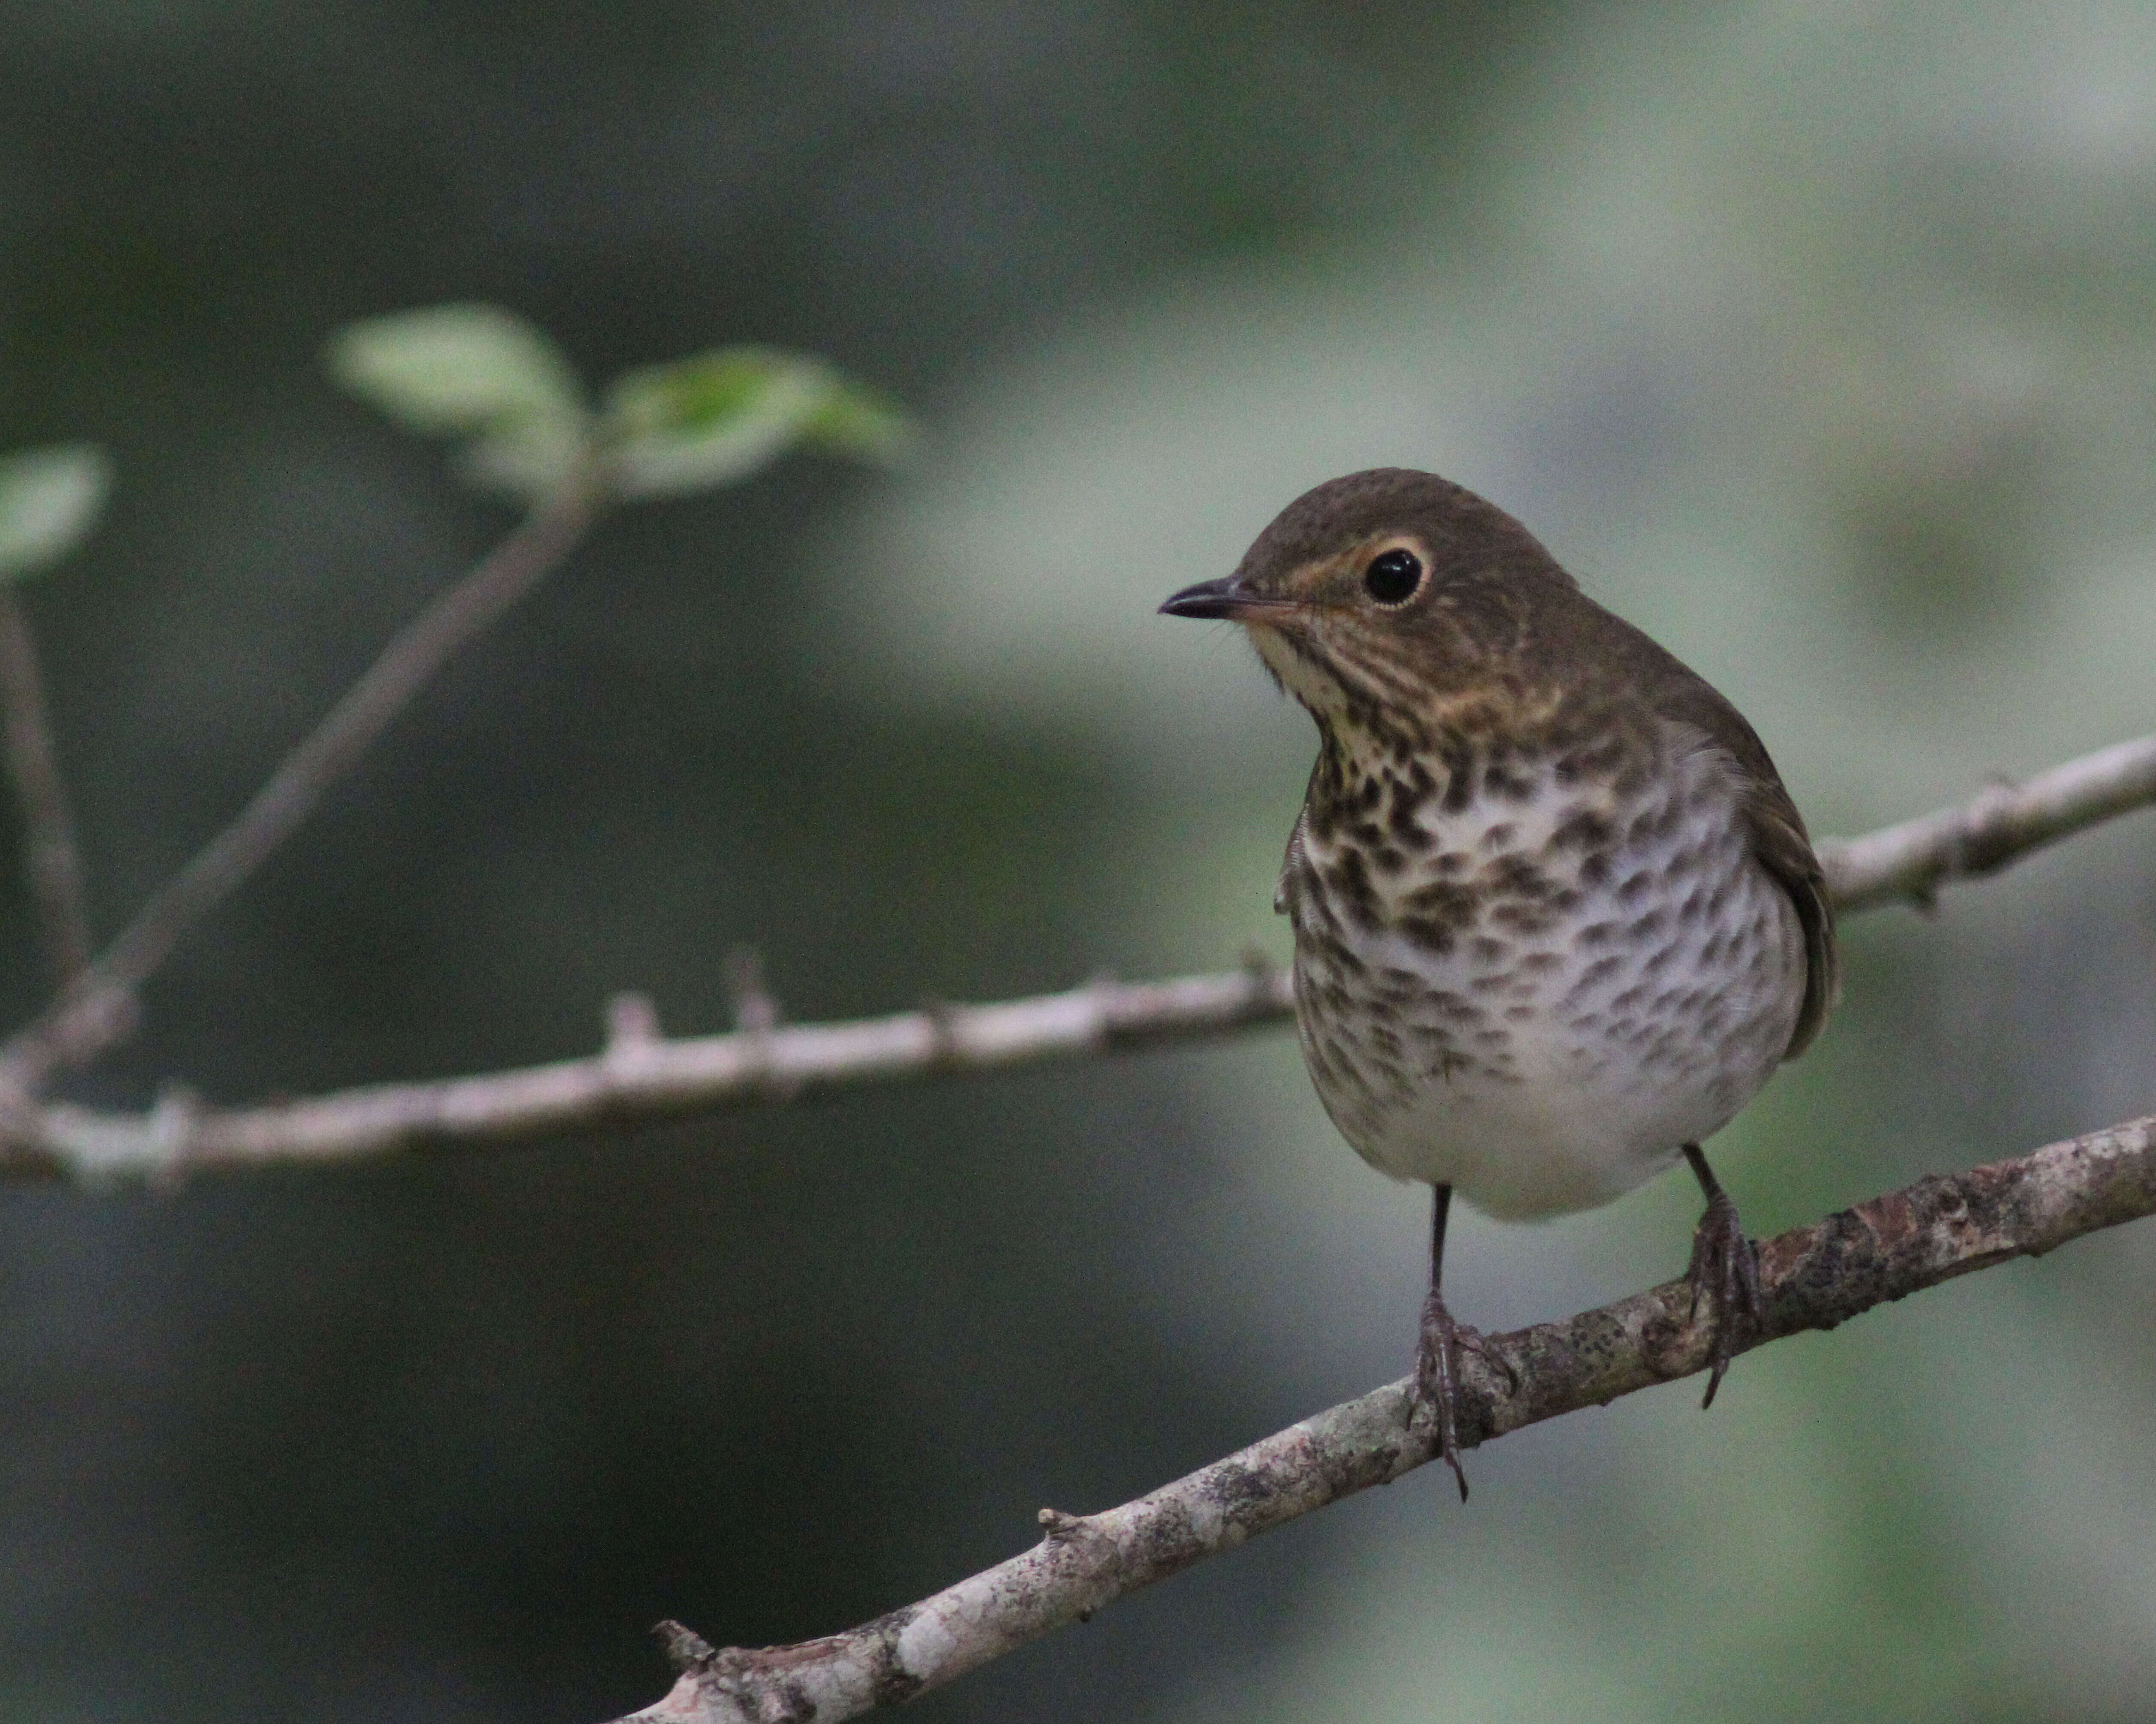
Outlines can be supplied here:
<path id="1" fill-rule="evenodd" d="M 1535 1220 L 1690 1162 L 1710 1405 L 1759 1265 L 1699 1142 L 1835 998 L 1826 881 L 1751 724 L 1427 472 L 1307 491 L 1162 610 L 1242 623 L 1317 720 L 1274 894 L 1296 1028 L 1356 1153 L 1436 1192 L 1408 1420 L 1432 1409 L 1460 1496 L 1457 1349 L 1481 1338 L 1440 1293 L 1453 1192 Z"/>

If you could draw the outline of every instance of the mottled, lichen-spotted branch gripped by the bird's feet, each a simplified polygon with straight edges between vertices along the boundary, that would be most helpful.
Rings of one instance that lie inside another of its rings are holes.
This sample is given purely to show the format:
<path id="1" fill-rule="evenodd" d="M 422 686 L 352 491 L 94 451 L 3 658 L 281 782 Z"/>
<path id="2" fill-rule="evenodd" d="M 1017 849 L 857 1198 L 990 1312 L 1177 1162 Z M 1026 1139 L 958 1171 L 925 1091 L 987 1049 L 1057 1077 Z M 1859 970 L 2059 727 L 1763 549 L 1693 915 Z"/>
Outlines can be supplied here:
<path id="1" fill-rule="evenodd" d="M 1921 1179 L 1764 1243 L 1764 1321 L 1749 1345 L 1830 1330 L 1887 1299 L 2150 1213 L 2156 1118 Z M 1686 1282 L 1488 1345 L 1503 1364 L 1462 1358 L 1464 1446 L 1688 1377 L 1708 1362 Z M 662 1633 L 681 1679 L 632 1718 L 832 1724 L 910 1700 L 1205 1556 L 1423 1465 L 1429 1422 L 1425 1414 L 1404 1427 L 1406 1390 L 1406 1379 L 1386 1384 L 1121 1508 L 1044 1508 L 1048 1537 L 1033 1549 L 845 1633 L 714 1651 L 668 1623 Z"/>

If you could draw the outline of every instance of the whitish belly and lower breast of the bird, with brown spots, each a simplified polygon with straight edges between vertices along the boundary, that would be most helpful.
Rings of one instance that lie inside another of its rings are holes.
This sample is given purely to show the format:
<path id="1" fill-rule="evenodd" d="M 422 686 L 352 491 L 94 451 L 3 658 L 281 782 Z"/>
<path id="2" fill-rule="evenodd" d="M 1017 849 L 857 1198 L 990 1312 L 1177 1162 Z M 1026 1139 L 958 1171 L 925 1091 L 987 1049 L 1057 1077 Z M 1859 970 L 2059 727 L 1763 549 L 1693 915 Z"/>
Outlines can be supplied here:
<path id="1" fill-rule="evenodd" d="M 1725 756 L 1699 750 L 1621 806 L 1552 778 L 1432 806 L 1421 856 L 1365 871 L 1373 916 L 1322 890 L 1343 847 L 1304 840 L 1302 1049 L 1363 1159 L 1524 1220 L 1608 1202 L 1725 1125 L 1781 1062 L 1805 993 L 1796 907 L 1733 802 Z M 1552 845 L 1583 806 L 1608 840 Z M 1416 922 L 1432 896 L 1447 937 Z"/>

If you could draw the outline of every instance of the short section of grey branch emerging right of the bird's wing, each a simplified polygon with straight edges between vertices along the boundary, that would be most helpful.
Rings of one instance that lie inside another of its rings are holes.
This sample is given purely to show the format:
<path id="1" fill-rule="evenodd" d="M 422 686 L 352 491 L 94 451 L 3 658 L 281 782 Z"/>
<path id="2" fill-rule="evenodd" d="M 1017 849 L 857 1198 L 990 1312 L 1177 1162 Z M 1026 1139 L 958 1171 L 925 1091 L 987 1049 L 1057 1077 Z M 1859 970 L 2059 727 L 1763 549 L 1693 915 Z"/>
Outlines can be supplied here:
<path id="1" fill-rule="evenodd" d="M 1930 905 L 1949 879 L 1994 873 L 2033 849 L 2150 802 L 2156 802 L 2156 737 L 2139 737 L 2020 784 L 1992 784 L 1958 808 L 1863 838 L 1828 838 L 1820 845 L 1820 862 L 1841 909 L 1871 909 L 1897 899 Z"/>

